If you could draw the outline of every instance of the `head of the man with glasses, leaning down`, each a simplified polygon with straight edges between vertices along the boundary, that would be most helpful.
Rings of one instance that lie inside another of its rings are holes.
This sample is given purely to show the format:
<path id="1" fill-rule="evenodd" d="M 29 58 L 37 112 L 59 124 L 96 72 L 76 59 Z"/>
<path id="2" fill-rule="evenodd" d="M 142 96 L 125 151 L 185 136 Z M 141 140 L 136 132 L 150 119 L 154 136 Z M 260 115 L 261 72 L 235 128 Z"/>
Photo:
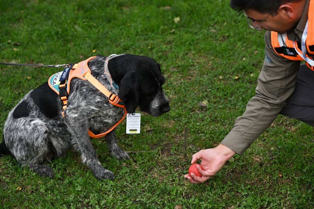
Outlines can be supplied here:
<path id="1" fill-rule="evenodd" d="M 301 19 L 306 0 L 231 0 L 231 8 L 244 11 L 252 28 L 279 34 L 293 29 Z"/>

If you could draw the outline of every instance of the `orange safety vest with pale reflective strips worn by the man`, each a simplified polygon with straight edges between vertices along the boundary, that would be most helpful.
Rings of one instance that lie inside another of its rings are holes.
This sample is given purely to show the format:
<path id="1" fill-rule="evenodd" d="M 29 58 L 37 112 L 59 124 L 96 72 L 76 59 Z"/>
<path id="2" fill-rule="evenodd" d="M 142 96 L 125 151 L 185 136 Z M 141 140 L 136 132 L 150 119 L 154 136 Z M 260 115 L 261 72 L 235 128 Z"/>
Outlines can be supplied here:
<path id="1" fill-rule="evenodd" d="M 310 1 L 308 20 L 301 42 L 289 40 L 287 33 L 278 34 L 271 31 L 271 43 L 278 55 L 289 60 L 305 60 L 307 67 L 314 71 L 314 1 Z"/>

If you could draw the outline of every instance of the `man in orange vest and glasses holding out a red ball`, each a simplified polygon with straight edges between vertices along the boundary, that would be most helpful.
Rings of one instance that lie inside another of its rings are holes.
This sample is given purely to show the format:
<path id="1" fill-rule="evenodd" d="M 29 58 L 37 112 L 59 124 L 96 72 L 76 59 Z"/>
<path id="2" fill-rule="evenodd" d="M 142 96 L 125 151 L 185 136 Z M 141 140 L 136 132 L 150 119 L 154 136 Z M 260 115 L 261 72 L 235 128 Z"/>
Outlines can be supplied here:
<path id="1" fill-rule="evenodd" d="M 244 11 L 251 28 L 267 30 L 265 60 L 256 95 L 233 129 L 217 147 L 192 156 L 191 163 L 202 159 L 204 169 L 198 168 L 202 177 L 184 176 L 195 184 L 214 176 L 236 153 L 244 153 L 279 114 L 314 126 L 314 1 L 231 0 L 230 5 Z"/>

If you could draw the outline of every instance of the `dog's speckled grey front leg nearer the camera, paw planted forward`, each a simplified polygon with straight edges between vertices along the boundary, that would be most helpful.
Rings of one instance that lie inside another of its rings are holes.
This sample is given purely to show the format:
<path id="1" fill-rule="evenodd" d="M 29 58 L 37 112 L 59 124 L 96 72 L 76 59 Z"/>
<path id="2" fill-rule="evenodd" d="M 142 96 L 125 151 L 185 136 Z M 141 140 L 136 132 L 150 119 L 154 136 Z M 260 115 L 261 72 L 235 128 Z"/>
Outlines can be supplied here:
<path id="1" fill-rule="evenodd" d="M 72 134 L 73 147 L 81 153 L 82 162 L 86 163 L 97 179 L 113 180 L 113 173 L 105 169 L 97 158 L 96 151 L 88 135 L 88 121 L 68 115 L 66 123 L 68 130 Z"/>

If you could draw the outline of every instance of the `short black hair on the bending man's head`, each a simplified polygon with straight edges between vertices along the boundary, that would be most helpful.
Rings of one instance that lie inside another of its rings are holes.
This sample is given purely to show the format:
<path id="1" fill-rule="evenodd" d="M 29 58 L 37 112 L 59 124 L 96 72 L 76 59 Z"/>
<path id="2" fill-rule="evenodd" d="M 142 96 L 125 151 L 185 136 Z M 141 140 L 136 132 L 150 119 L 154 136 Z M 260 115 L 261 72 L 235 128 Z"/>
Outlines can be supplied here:
<path id="1" fill-rule="evenodd" d="M 276 13 L 275 10 L 283 3 L 299 2 L 301 0 L 230 0 L 230 6 L 237 11 L 253 9 L 259 13 Z"/>

